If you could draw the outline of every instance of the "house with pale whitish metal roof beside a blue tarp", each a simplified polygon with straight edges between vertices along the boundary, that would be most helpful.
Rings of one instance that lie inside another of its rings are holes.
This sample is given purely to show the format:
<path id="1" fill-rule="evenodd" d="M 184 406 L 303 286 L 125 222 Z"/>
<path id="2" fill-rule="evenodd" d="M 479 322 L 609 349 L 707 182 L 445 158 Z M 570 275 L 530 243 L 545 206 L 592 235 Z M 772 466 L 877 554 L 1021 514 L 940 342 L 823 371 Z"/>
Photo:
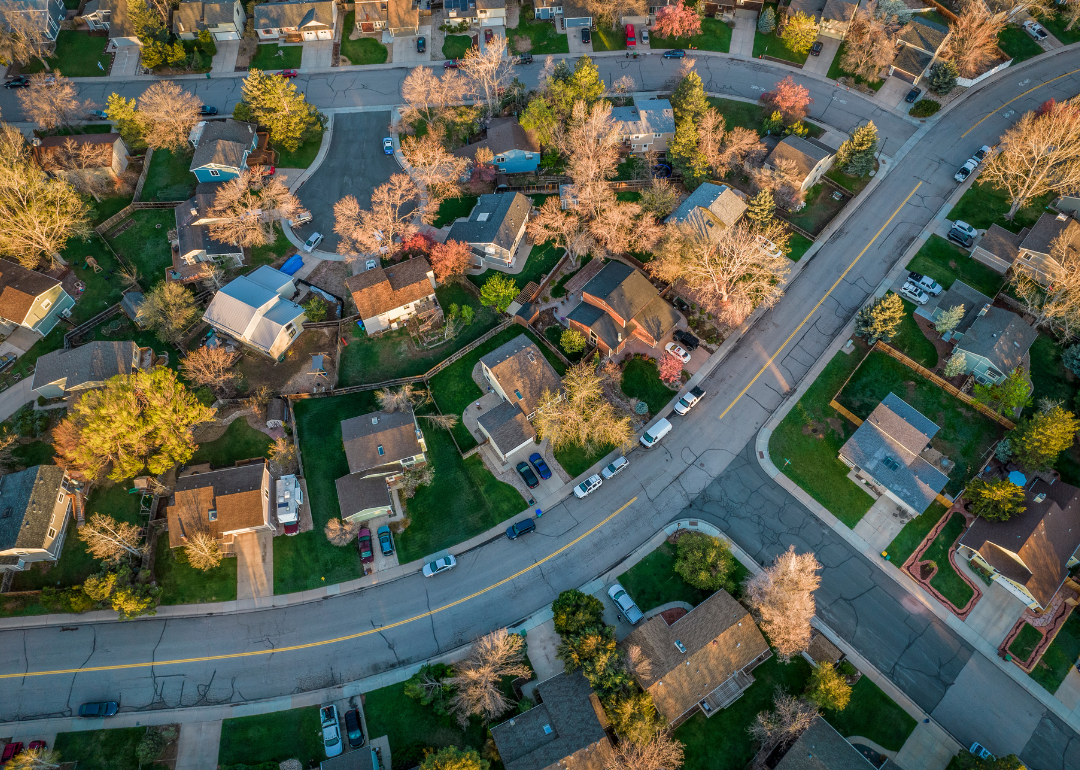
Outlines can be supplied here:
<path id="1" fill-rule="evenodd" d="M 214 295 L 203 321 L 218 332 L 276 359 L 303 330 L 303 308 L 291 301 L 293 279 L 264 265 Z"/>

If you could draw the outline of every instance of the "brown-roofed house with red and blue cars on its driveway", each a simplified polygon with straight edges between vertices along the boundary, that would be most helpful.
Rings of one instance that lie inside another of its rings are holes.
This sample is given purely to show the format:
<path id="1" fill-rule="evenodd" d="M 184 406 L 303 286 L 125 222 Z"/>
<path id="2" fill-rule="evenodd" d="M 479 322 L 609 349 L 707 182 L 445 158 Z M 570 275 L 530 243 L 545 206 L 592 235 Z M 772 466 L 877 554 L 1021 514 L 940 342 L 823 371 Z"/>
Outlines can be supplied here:
<path id="1" fill-rule="evenodd" d="M 341 421 L 349 475 L 337 479 L 341 518 L 364 522 L 393 511 L 390 486 L 428 461 L 428 445 L 408 411 L 374 411 Z"/>

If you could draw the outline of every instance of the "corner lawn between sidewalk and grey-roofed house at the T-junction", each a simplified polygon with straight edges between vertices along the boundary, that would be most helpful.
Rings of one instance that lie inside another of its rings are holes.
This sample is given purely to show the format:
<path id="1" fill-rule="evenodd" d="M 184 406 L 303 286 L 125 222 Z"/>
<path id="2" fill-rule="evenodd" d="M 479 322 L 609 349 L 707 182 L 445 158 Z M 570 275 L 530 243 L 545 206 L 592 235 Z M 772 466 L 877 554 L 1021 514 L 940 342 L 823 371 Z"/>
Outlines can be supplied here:
<path id="1" fill-rule="evenodd" d="M 849 527 L 870 510 L 874 499 L 847 478 L 850 469 L 838 455 L 855 427 L 829 408 L 828 402 L 859 365 L 865 348 L 856 346 L 852 353 L 833 356 L 769 440 L 777 468 Z"/>

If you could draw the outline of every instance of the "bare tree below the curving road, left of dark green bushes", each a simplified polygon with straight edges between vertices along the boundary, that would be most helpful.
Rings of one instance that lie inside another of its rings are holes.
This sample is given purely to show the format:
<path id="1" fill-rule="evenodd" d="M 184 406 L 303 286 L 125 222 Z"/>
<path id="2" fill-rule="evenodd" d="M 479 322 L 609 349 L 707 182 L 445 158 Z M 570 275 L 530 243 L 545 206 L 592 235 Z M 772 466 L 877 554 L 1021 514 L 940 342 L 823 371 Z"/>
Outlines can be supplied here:
<path id="1" fill-rule="evenodd" d="M 450 711 L 462 727 L 473 715 L 490 721 L 507 711 L 502 679 L 530 673 L 525 664 L 525 639 L 505 629 L 492 631 L 476 639 L 464 660 L 455 664 L 449 684 L 457 691 L 450 699 Z"/>

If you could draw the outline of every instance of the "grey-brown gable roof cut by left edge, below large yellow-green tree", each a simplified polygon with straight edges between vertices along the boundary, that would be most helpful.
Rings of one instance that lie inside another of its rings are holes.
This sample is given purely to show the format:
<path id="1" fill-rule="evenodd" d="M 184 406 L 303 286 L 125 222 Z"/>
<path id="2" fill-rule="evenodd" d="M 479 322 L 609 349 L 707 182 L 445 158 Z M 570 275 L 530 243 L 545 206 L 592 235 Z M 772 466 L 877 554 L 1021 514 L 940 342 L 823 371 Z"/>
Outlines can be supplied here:
<path id="1" fill-rule="evenodd" d="M 44 544 L 63 483 L 58 465 L 33 465 L 0 476 L 0 551 Z"/>

